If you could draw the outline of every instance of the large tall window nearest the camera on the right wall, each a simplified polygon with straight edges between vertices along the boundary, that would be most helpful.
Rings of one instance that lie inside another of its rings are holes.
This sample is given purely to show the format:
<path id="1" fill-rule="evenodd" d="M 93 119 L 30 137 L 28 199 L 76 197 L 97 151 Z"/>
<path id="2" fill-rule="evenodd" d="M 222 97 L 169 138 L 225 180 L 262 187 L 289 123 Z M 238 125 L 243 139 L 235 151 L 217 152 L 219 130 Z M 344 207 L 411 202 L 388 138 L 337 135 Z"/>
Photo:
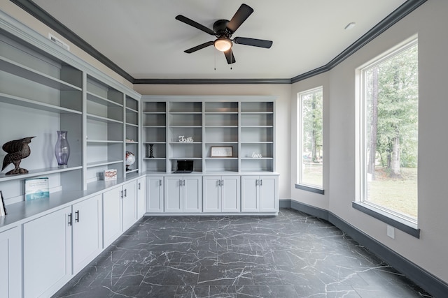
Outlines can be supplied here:
<path id="1" fill-rule="evenodd" d="M 417 54 L 414 39 L 360 69 L 360 200 L 415 224 Z"/>

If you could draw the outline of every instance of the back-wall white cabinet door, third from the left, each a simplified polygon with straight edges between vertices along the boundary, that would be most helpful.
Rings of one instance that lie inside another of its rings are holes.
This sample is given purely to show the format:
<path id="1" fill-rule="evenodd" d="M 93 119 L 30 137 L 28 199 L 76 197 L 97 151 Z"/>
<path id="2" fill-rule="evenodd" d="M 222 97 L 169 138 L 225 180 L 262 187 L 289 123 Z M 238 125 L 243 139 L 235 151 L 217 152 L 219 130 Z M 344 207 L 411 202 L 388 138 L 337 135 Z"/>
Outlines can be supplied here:
<path id="1" fill-rule="evenodd" d="M 183 211 L 202 211 L 202 177 L 183 177 Z"/>

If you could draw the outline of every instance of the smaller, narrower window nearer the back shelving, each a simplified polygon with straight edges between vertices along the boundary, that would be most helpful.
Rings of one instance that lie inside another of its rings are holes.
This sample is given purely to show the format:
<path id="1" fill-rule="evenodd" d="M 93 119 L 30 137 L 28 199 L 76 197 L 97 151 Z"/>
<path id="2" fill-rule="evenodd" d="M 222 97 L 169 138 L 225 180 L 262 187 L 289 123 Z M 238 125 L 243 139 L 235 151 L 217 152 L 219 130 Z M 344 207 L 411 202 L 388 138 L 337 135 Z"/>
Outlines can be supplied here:
<path id="1" fill-rule="evenodd" d="M 323 189 L 322 87 L 297 94 L 297 188 Z M 304 187 L 302 187 L 304 186 Z M 316 191 L 317 193 L 323 193 Z"/>

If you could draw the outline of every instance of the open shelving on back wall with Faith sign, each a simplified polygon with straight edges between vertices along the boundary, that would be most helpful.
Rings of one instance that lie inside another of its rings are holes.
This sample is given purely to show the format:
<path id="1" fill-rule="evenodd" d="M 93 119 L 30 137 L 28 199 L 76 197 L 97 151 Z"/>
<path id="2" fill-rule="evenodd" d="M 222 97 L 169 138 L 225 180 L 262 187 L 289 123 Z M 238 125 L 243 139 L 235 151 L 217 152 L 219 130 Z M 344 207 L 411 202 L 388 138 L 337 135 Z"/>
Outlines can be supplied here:
<path id="1" fill-rule="evenodd" d="M 148 172 L 172 172 L 186 159 L 195 172 L 275 171 L 272 97 L 142 96 L 142 107 Z M 232 154 L 216 156 L 214 147 Z"/>

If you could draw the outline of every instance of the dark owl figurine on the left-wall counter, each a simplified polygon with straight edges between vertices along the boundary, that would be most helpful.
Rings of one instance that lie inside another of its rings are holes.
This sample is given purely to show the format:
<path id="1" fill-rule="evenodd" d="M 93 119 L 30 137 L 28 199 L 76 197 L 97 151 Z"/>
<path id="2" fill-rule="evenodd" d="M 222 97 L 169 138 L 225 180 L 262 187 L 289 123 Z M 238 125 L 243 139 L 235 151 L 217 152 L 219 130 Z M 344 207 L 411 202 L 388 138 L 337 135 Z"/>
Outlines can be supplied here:
<path id="1" fill-rule="evenodd" d="M 7 172 L 7 175 L 28 173 L 27 169 L 22 169 L 19 165 L 23 158 L 27 158 L 29 154 L 31 154 L 31 149 L 28 144 L 31 143 L 32 138 L 33 137 L 24 137 L 23 139 L 13 140 L 3 144 L 1 149 L 7 154 L 5 158 L 3 158 L 3 167 L 1 170 L 5 170 L 5 167 L 10 163 L 13 163 L 14 165 L 14 169 Z"/>

